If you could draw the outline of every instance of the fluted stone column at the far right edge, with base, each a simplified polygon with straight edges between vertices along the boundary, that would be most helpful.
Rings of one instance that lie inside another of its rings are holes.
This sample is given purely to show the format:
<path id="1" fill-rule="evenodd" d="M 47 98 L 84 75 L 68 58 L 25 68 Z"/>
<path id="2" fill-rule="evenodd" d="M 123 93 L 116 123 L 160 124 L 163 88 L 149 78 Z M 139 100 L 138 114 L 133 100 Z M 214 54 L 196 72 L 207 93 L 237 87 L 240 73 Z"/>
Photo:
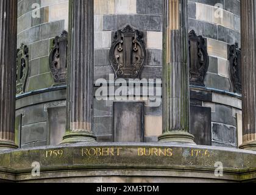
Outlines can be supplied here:
<path id="1" fill-rule="evenodd" d="M 256 2 L 241 0 L 243 144 L 256 151 Z"/>

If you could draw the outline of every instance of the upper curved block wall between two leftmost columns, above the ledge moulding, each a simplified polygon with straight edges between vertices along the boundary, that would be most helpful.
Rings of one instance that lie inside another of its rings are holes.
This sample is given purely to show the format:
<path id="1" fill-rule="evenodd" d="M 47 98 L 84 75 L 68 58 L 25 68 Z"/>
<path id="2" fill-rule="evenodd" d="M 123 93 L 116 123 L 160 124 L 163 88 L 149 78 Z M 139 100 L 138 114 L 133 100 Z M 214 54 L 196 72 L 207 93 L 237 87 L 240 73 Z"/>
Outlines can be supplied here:
<path id="1" fill-rule="evenodd" d="M 51 87 L 49 69 L 51 40 L 68 29 L 68 0 L 21 0 L 18 2 L 18 41 L 29 48 L 30 74 L 26 92 Z"/>

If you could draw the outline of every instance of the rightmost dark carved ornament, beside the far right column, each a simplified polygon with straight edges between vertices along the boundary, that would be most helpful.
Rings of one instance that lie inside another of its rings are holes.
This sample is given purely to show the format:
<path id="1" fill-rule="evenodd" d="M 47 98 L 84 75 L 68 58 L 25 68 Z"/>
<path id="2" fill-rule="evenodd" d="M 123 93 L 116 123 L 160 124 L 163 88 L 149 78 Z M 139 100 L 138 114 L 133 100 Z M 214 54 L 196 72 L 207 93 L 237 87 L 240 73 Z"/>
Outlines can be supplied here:
<path id="1" fill-rule="evenodd" d="M 241 49 L 238 43 L 229 46 L 229 74 L 234 93 L 242 92 Z"/>

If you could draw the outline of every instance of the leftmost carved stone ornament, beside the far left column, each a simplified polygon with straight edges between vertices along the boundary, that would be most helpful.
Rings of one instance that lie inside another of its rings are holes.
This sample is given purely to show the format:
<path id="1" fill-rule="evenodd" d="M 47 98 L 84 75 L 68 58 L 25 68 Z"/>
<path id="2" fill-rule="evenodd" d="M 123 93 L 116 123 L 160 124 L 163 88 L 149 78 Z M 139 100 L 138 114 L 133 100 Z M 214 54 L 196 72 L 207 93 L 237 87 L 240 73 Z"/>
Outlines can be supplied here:
<path id="1" fill-rule="evenodd" d="M 29 48 L 22 43 L 17 50 L 16 94 L 25 93 L 29 71 Z"/>

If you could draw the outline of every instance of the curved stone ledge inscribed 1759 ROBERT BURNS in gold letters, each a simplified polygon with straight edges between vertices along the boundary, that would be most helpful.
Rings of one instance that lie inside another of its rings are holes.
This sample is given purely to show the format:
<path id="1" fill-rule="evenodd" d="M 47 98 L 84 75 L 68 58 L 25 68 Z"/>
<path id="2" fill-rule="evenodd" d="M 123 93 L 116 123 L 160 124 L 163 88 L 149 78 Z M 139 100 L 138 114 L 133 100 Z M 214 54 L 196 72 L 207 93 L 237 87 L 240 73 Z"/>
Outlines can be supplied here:
<path id="1" fill-rule="evenodd" d="M 256 152 L 221 147 L 158 143 L 73 144 L 0 152 L 0 159 L 0 181 L 90 182 L 92 178 L 94 182 L 114 182 L 124 178 L 144 182 L 256 180 Z M 34 161 L 41 165 L 40 177 L 31 175 Z M 214 174 L 216 162 L 224 166 L 222 177 Z"/>

